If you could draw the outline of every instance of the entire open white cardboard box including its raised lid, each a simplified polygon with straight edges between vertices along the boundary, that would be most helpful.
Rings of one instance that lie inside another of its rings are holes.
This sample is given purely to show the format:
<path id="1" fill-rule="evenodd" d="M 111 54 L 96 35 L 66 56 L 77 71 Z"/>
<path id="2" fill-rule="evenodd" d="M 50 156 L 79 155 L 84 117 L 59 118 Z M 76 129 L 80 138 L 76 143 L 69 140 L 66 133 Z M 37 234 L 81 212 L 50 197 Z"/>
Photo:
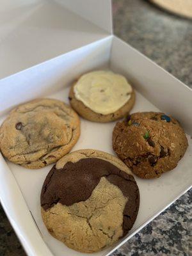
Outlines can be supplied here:
<path id="1" fill-rule="evenodd" d="M 68 88 L 76 77 L 89 70 L 110 68 L 124 74 L 136 89 L 132 113 L 160 109 L 179 119 L 189 134 L 188 150 L 174 171 L 154 180 L 136 177 L 141 202 L 134 227 L 113 248 L 93 253 L 109 255 L 191 187 L 192 91 L 111 34 L 109 0 L 0 3 L 1 122 L 11 108 L 36 97 L 68 102 Z M 114 125 L 81 119 L 81 137 L 73 150 L 95 148 L 114 154 Z M 28 255 L 84 255 L 54 239 L 42 222 L 40 190 L 50 169 L 27 170 L 0 156 L 1 204 Z"/>

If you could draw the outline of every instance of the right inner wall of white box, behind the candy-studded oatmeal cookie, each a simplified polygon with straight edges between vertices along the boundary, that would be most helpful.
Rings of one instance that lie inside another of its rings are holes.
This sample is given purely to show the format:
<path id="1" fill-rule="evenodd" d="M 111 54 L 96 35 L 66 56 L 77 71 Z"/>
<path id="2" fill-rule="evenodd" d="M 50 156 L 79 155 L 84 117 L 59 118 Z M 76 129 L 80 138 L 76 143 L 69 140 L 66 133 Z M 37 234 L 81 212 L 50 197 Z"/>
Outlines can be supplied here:
<path id="1" fill-rule="evenodd" d="M 113 37 L 111 68 L 121 72 L 157 108 L 192 134 L 192 90 L 125 42 Z"/>

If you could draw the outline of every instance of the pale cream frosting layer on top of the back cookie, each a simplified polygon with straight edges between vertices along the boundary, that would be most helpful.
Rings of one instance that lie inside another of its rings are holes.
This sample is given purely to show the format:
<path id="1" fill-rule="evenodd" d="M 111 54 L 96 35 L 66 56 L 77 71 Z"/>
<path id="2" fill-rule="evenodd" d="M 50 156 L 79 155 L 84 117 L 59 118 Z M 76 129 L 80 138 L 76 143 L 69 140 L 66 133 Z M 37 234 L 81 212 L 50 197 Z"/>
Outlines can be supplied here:
<path id="1" fill-rule="evenodd" d="M 74 86 L 77 100 L 96 113 L 108 115 L 131 98 L 132 87 L 124 76 L 111 71 L 84 74 Z"/>

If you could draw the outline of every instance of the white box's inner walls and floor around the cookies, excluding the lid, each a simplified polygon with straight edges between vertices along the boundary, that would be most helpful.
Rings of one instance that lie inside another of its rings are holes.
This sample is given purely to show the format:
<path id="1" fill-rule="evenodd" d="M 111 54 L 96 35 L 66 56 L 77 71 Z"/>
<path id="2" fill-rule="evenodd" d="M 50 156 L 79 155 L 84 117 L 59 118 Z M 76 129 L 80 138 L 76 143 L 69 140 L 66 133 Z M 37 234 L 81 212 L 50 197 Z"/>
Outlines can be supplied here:
<path id="1" fill-rule="evenodd" d="M 160 109 L 179 119 L 185 131 L 190 134 L 192 131 L 192 120 L 189 115 L 192 107 L 191 90 L 115 36 L 108 36 L 1 80 L 1 122 L 10 108 L 36 97 L 51 97 L 68 102 L 68 90 L 72 81 L 84 72 L 100 68 L 118 71 L 133 84 L 136 89 L 136 104 L 131 113 Z M 81 118 L 81 136 L 72 150 L 95 148 L 114 154 L 111 145 L 114 125 L 115 122 L 99 124 Z M 189 189 L 192 180 L 191 141 L 188 136 L 188 150 L 175 170 L 164 173 L 159 179 L 143 180 L 135 177 L 141 196 L 138 218 L 128 236 L 115 248 L 125 243 Z M 51 167 L 50 165 L 38 170 L 28 170 L 9 161 L 5 162 L 1 157 L 0 186 L 4 191 L 0 192 L 1 202 L 28 255 L 84 255 L 70 250 L 65 244 L 54 239 L 42 222 L 40 191 Z M 29 211 L 42 237 L 38 234 Z M 108 248 L 93 255 L 108 255 L 111 250 L 112 248 Z"/>

